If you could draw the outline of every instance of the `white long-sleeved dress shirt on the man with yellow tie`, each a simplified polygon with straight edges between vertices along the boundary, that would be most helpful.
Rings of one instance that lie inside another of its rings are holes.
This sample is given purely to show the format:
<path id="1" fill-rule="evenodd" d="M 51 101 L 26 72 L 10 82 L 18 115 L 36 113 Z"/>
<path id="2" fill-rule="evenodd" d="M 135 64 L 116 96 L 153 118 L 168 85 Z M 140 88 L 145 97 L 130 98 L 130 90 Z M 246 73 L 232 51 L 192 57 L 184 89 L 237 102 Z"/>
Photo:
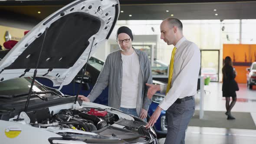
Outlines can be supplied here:
<path id="1" fill-rule="evenodd" d="M 174 70 L 171 88 L 159 107 L 165 111 L 177 100 L 197 93 L 197 79 L 200 70 L 200 49 L 184 36 L 175 45 Z M 171 56 L 171 53 L 170 53 Z M 169 74 L 170 75 L 170 74 Z M 161 93 L 167 85 L 160 85 Z"/>

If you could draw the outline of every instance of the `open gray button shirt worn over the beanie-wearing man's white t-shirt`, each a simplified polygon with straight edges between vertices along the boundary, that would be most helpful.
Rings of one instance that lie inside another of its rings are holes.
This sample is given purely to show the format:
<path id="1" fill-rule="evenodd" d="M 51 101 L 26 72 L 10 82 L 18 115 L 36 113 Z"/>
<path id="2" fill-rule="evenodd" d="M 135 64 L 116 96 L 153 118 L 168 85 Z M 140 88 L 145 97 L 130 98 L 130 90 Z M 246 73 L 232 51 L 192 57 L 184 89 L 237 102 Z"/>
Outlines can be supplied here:
<path id="1" fill-rule="evenodd" d="M 136 104 L 136 111 L 138 115 L 140 115 L 141 108 L 148 111 L 148 108 L 151 105 L 152 100 L 147 97 L 148 87 L 145 84 L 152 84 L 152 73 L 148 55 L 138 49 L 134 50 L 138 55 L 141 68 L 138 79 L 138 96 Z M 98 76 L 97 82 L 92 88 L 92 92 L 88 96 L 90 101 L 93 102 L 108 86 L 108 106 L 120 109 L 122 70 L 121 50 L 110 53 Z"/>

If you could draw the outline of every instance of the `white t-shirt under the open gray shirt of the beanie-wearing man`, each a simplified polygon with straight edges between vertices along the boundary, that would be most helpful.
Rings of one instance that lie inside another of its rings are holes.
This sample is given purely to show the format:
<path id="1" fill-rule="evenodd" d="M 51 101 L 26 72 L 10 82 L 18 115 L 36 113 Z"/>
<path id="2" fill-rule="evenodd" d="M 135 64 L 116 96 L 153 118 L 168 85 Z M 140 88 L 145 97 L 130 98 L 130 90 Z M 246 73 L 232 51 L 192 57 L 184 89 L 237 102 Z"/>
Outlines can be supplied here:
<path id="1" fill-rule="evenodd" d="M 121 107 L 136 108 L 140 72 L 138 55 L 134 51 L 130 56 L 123 54 L 121 56 L 123 62 Z"/>

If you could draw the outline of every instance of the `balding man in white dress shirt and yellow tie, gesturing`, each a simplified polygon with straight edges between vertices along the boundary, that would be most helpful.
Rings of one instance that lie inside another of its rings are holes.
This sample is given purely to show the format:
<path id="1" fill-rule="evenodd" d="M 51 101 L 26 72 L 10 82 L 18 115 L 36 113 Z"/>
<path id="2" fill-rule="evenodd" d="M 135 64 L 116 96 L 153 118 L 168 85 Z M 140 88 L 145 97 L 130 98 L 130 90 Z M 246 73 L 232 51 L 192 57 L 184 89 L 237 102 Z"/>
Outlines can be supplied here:
<path id="1" fill-rule="evenodd" d="M 200 69 L 200 49 L 182 33 L 180 20 L 170 17 L 160 26 L 161 39 L 174 45 L 170 62 L 168 85 L 148 85 L 148 98 L 155 92 L 166 93 L 146 127 L 153 126 L 161 110 L 166 111 L 167 136 L 164 144 L 184 144 L 185 130 L 195 110 L 193 96 L 197 93 Z M 171 79 L 171 80 L 170 80 Z"/>

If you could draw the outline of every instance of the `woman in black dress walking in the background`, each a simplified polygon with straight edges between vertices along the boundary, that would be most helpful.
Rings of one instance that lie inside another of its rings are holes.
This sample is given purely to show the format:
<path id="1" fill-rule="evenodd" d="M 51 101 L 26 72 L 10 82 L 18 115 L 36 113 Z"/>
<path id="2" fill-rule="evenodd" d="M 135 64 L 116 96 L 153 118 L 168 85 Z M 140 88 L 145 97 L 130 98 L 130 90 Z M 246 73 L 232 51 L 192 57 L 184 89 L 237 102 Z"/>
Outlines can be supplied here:
<path id="1" fill-rule="evenodd" d="M 231 109 L 236 103 L 236 91 L 239 90 L 238 85 L 235 81 L 236 71 L 233 69 L 232 60 L 227 56 L 224 60 L 224 65 L 222 68 L 223 74 L 223 85 L 222 85 L 222 96 L 226 97 L 226 115 L 228 120 L 235 119 L 231 115 Z M 230 97 L 232 97 L 232 102 L 230 103 Z"/>

